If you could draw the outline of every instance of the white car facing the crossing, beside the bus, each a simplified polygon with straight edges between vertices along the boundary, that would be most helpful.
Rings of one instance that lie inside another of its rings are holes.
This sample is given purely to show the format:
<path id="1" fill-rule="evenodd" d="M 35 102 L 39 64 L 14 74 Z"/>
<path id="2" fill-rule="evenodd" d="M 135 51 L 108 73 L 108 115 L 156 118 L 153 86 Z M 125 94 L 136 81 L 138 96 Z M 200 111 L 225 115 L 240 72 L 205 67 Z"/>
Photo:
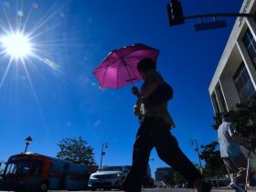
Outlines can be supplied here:
<path id="1" fill-rule="evenodd" d="M 88 187 L 92 191 L 96 189 L 110 190 L 121 189 L 123 179 L 127 176 L 131 166 L 103 166 L 96 173 L 91 174 Z"/>

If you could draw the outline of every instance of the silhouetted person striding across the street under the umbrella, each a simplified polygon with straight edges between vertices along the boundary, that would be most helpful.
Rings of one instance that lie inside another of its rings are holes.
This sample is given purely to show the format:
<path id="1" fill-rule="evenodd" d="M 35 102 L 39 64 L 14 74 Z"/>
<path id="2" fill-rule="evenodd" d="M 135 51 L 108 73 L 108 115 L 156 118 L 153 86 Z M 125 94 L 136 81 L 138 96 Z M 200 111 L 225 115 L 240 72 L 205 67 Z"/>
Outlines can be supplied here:
<path id="1" fill-rule="evenodd" d="M 211 186 L 204 182 L 203 176 L 183 154 L 176 138 L 170 133 L 174 122 L 167 111 L 167 101 L 163 97 L 165 91 L 161 94 L 157 93 L 161 87 L 165 87 L 165 80 L 155 67 L 155 61 L 152 59 L 143 59 L 137 66 L 144 83 L 141 91 L 133 87 L 132 92 L 138 99 L 134 113 L 139 116 L 141 125 L 133 144 L 132 168 L 123 181 L 123 190 L 126 192 L 142 190 L 149 156 L 155 147 L 159 157 L 191 182 L 197 192 L 209 192 Z"/>

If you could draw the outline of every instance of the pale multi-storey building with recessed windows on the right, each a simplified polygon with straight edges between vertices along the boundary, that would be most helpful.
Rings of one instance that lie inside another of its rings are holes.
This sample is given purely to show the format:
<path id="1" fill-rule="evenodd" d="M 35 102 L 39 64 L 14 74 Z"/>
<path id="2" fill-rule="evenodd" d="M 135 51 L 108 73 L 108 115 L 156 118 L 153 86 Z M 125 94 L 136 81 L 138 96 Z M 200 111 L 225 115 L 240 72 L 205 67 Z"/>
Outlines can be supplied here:
<path id="1" fill-rule="evenodd" d="M 256 14 L 256 0 L 240 13 Z M 256 17 L 238 17 L 208 88 L 215 114 L 251 101 L 256 92 Z"/>

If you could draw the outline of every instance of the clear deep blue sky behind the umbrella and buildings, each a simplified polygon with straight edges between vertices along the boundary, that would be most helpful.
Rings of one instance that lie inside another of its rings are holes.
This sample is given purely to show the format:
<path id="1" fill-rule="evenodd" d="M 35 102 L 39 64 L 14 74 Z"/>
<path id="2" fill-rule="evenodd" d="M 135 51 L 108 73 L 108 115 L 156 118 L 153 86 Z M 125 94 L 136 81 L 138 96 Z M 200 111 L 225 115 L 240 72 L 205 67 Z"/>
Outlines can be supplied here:
<path id="1" fill-rule="evenodd" d="M 130 165 L 139 126 L 133 116 L 132 86 L 101 90 L 92 72 L 112 49 L 144 43 L 160 49 L 157 69 L 175 91 L 168 105 L 176 122 L 172 133 L 185 154 L 198 162 L 190 140 L 197 139 L 198 144 L 216 140 L 208 85 L 235 18 L 225 18 L 226 28 L 201 32 L 194 29 L 199 19 L 169 27 L 167 3 L 1 0 L 1 26 L 25 27 L 25 34 L 35 29 L 33 43 L 40 50 L 37 59 L 12 62 L 6 76 L 9 56 L 1 55 L 0 80 L 5 81 L 0 89 L 0 160 L 23 152 L 28 135 L 33 138 L 28 151 L 49 156 L 57 155 L 61 139 L 81 136 L 94 148 L 98 164 L 101 144 L 108 143 L 103 165 Z M 241 3 L 182 1 L 185 16 L 238 12 Z M 3 29 L 0 34 L 5 34 Z M 155 150 L 151 158 L 154 174 L 165 163 Z"/>

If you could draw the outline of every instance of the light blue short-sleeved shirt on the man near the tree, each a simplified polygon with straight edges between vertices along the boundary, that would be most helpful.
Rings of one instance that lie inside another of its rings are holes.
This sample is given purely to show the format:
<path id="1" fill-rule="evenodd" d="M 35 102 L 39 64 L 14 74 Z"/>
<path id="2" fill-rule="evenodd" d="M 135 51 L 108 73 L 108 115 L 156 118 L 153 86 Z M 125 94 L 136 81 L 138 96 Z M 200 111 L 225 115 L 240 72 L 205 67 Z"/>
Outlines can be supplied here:
<path id="1" fill-rule="evenodd" d="M 223 121 L 223 123 L 219 125 L 218 139 L 220 156 L 222 158 L 242 155 L 240 144 L 230 136 L 232 133 L 238 133 L 232 123 Z"/>

